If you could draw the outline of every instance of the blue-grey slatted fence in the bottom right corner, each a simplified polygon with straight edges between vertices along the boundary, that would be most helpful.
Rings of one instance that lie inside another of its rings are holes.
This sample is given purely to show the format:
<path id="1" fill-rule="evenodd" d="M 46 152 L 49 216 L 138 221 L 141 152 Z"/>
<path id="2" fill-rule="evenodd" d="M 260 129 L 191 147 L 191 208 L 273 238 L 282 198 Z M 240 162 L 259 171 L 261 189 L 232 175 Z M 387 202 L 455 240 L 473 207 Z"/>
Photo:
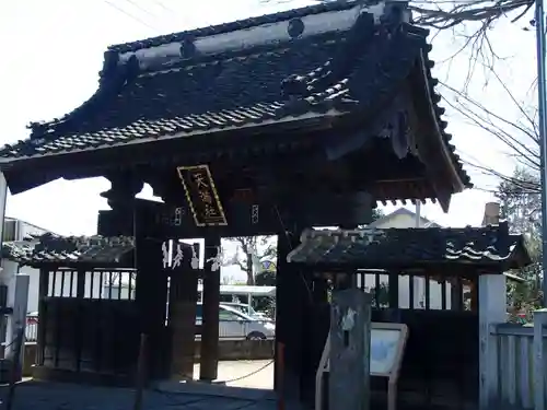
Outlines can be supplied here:
<path id="1" fill-rule="evenodd" d="M 497 385 L 497 401 L 504 408 L 545 409 L 547 402 L 547 312 L 535 314 L 533 326 L 498 324 L 497 366 L 489 372 Z"/>

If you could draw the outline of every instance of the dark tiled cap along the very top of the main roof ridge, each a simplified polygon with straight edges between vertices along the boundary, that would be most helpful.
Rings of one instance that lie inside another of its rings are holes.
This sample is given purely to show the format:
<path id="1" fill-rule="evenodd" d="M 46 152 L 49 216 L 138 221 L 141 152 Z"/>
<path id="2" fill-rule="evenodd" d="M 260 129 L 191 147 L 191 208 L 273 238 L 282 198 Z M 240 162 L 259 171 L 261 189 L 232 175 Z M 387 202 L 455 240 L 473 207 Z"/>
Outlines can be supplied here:
<path id="1" fill-rule="evenodd" d="M 221 23 L 206 27 L 193 28 L 178 33 L 172 33 L 155 37 L 146 38 L 142 40 L 112 45 L 108 50 L 116 52 L 131 52 L 143 48 L 158 47 L 167 43 L 176 43 L 187 39 L 188 37 L 208 37 L 217 34 L 225 34 L 240 30 L 255 27 L 261 24 L 271 24 L 283 20 L 298 19 L 311 14 L 326 13 L 330 11 L 342 11 L 352 9 L 359 4 L 358 0 L 348 1 L 330 1 L 326 3 L 312 4 L 304 8 L 286 10 L 277 13 L 264 14 L 259 16 L 235 20 L 229 23 Z M 362 2 L 362 1 L 361 1 Z M 369 1 L 362 2 L 368 5 Z"/>

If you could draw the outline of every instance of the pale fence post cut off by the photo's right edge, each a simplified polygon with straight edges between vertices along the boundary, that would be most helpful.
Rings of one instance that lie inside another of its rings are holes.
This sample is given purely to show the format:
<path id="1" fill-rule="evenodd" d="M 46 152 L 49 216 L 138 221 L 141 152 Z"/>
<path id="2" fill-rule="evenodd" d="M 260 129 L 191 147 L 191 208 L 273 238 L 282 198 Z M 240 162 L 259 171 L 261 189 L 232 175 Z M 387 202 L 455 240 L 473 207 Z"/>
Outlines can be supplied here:
<path id="1" fill-rule="evenodd" d="M 547 325 L 547 308 L 534 312 L 534 410 L 545 410 L 545 361 L 544 326 Z"/>

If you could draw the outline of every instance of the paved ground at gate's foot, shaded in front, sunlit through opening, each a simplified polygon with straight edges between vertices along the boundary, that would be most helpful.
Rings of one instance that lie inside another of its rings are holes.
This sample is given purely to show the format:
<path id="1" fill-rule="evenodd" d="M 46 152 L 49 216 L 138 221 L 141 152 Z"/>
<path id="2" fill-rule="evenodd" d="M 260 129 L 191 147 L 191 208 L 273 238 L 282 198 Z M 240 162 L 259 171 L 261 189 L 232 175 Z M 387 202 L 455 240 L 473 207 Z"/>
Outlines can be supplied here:
<path id="1" fill-rule="evenodd" d="M 241 378 L 226 383 L 238 387 L 170 383 L 162 391 L 146 391 L 142 410 L 276 410 L 271 391 L 274 370 L 268 363 L 223 362 L 219 367 L 219 380 Z M 254 375 L 242 378 L 253 372 Z M 261 389 L 241 388 L 248 386 Z M 0 386 L 2 401 L 7 394 L 7 386 Z M 133 400 L 131 389 L 30 380 L 18 385 L 12 410 L 132 410 Z M 0 410 L 3 409 L 5 402 L 0 405 Z M 292 407 L 288 406 L 287 410 Z"/>

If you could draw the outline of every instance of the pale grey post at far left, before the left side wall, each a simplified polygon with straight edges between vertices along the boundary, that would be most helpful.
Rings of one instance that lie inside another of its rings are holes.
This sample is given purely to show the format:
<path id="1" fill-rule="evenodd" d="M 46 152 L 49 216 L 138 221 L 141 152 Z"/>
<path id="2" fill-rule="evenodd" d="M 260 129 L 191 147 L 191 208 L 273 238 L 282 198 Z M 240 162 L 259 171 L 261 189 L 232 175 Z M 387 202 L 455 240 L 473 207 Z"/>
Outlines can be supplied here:
<path id="1" fill-rule="evenodd" d="M 21 331 L 25 331 L 26 326 L 26 309 L 28 304 L 28 284 L 31 283 L 31 277 L 28 274 L 16 274 L 15 276 L 15 292 L 13 303 L 13 313 L 10 315 L 8 320 L 8 335 L 5 338 L 5 358 L 14 360 L 18 349 L 18 337 Z M 20 352 L 19 363 L 23 364 L 24 358 L 24 341 Z"/>

